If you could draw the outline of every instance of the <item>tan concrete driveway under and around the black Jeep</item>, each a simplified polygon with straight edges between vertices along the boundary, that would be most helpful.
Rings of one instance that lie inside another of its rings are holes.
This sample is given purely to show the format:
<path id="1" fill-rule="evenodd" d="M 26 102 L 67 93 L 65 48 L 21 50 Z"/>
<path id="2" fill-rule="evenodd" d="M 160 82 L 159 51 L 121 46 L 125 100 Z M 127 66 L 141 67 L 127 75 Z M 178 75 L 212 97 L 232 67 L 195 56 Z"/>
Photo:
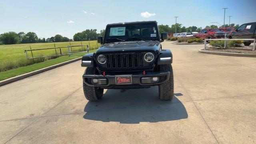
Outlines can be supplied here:
<path id="1" fill-rule="evenodd" d="M 157 87 L 88 102 L 78 61 L 0 87 L 0 143 L 256 143 L 256 58 L 163 47 L 174 55 L 171 102 Z"/>

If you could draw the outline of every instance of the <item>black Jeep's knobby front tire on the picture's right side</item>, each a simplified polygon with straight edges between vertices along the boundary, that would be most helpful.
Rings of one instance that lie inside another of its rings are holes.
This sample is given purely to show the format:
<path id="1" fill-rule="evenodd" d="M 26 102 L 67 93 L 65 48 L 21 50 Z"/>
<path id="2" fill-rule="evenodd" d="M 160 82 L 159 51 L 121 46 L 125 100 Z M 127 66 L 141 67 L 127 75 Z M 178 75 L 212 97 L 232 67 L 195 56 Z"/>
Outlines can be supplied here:
<path id="1" fill-rule="evenodd" d="M 174 95 L 173 71 L 171 64 L 160 65 L 160 72 L 170 72 L 170 78 L 164 84 L 158 86 L 160 100 L 172 100 Z"/>

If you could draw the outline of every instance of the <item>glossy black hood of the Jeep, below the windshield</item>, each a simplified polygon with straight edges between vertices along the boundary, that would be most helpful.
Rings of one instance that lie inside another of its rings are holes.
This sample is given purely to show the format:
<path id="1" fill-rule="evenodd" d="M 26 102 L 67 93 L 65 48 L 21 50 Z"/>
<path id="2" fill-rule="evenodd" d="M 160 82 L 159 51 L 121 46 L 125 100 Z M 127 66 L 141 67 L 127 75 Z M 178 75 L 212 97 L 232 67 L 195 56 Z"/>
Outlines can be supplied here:
<path id="1" fill-rule="evenodd" d="M 95 52 L 112 53 L 112 52 L 135 52 L 135 51 L 156 51 L 160 50 L 160 42 L 158 41 L 128 41 L 128 42 L 112 42 L 102 45 Z"/>

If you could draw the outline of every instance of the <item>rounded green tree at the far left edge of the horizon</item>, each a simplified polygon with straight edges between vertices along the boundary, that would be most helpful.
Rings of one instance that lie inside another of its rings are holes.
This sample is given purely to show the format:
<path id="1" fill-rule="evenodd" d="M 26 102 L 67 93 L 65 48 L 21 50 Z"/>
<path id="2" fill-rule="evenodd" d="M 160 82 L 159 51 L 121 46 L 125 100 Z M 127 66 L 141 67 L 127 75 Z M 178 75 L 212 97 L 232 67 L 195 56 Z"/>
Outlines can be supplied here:
<path id="1" fill-rule="evenodd" d="M 5 32 L 0 35 L 0 41 L 2 41 L 3 44 L 17 44 L 20 38 L 16 32 Z"/>

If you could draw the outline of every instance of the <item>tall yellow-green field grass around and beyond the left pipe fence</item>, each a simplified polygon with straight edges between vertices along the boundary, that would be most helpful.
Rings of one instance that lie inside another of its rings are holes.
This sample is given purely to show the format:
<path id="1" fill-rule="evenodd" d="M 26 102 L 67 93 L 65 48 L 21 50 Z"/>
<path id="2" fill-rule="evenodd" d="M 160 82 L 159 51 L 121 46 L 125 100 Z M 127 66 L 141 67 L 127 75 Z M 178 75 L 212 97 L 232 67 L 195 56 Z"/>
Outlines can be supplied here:
<path id="1" fill-rule="evenodd" d="M 19 68 L 23 66 L 28 66 L 34 63 L 43 62 L 47 60 L 47 58 L 38 58 L 27 60 L 26 54 L 24 50 L 31 49 L 44 49 L 44 48 L 54 48 L 55 47 L 62 47 L 68 45 L 81 45 L 81 44 L 89 44 L 89 41 L 82 41 L 82 42 L 49 42 L 49 43 L 33 43 L 33 44 L 10 44 L 10 45 L 0 45 L 0 72 L 4 72 L 6 70 L 11 70 L 13 68 Z M 90 41 L 90 50 L 96 49 L 100 47 L 100 44 L 97 44 L 97 41 Z M 82 47 L 73 47 L 73 52 L 84 51 L 86 46 Z M 68 48 L 62 48 L 62 54 L 68 53 Z M 50 56 L 55 54 L 60 54 L 60 49 L 50 49 L 50 50 L 36 50 L 33 51 L 33 56 Z M 28 51 L 29 57 L 32 57 L 30 51 Z M 48 58 L 49 59 L 49 58 Z"/>

